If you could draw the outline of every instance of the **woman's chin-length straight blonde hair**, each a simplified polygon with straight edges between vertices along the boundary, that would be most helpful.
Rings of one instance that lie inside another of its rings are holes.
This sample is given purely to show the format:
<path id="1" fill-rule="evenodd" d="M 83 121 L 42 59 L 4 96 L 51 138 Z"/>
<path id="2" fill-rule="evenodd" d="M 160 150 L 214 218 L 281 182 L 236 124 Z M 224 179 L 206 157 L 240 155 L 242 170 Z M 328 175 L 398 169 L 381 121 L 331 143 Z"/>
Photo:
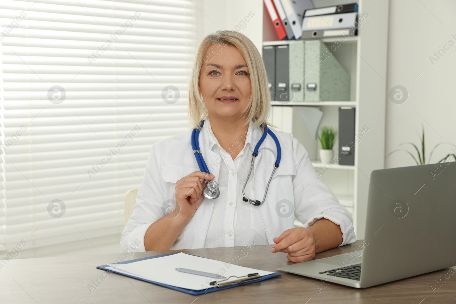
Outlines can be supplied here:
<path id="1" fill-rule="evenodd" d="M 199 93 L 198 83 L 201 75 L 201 68 L 204 61 L 204 52 L 208 46 L 212 46 L 207 52 L 208 57 L 212 58 L 223 46 L 235 46 L 242 57 L 244 57 L 250 72 L 251 93 L 249 105 L 244 109 L 242 116 L 245 116 L 244 125 L 253 119 L 253 126 L 257 127 L 264 123 L 275 127 L 267 122 L 267 116 L 271 110 L 271 98 L 269 94 L 268 79 L 266 69 L 264 68 L 263 59 L 259 54 L 254 43 L 244 34 L 237 31 L 220 31 L 215 34 L 209 34 L 201 41 L 198 46 L 195 61 L 193 62 L 192 76 L 190 77 L 188 113 L 190 123 L 194 129 L 199 129 L 202 119 L 207 116 L 207 108 Z"/>

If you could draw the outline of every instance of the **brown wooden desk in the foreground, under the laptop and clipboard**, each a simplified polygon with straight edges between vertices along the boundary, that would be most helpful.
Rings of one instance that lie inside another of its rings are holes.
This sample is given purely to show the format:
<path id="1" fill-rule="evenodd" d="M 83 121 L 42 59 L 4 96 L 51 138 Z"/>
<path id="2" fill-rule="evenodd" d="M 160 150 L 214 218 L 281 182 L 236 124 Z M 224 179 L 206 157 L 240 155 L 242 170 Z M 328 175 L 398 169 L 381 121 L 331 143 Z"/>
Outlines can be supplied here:
<path id="1" fill-rule="evenodd" d="M 352 252 L 361 243 L 362 241 L 358 240 L 350 245 L 319 253 L 316 258 Z M 271 253 L 269 245 L 252 246 L 249 250 L 241 252 L 243 248 L 204 248 L 182 250 L 182 252 L 224 262 L 233 258 L 236 261 L 237 257 L 237 265 L 275 272 L 279 272 L 276 267 L 290 264 L 285 253 Z M 95 266 L 113 263 L 118 258 L 130 260 L 169 252 L 178 251 L 135 252 L 127 258 L 122 257 L 121 254 L 98 254 L 80 257 L 12 259 L 0 269 L 0 303 L 456 303 L 456 273 L 446 282 L 443 278 L 449 269 L 368 289 L 354 289 L 282 273 L 280 277 L 259 283 L 194 296 L 127 278 L 117 273 L 111 273 L 101 280 L 98 275 L 105 272 L 95 268 Z M 439 285 L 435 280 L 440 278 L 443 278 L 441 282 L 444 283 L 436 289 Z M 96 279 L 98 284 L 93 283 Z M 89 284 L 93 286 L 92 289 L 89 288 Z"/>

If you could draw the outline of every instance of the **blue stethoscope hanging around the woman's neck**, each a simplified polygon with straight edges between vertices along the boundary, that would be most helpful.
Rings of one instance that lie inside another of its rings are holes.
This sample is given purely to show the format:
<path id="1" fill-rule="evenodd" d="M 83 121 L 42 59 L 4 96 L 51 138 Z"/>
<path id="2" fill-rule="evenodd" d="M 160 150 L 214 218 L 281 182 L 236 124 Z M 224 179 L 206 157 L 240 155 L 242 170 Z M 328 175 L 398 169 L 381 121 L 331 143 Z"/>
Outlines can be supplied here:
<path id="1" fill-rule="evenodd" d="M 202 120 L 202 122 L 200 124 L 200 130 L 201 130 L 203 124 L 204 124 L 204 119 Z M 199 149 L 198 137 L 199 137 L 200 130 L 193 129 L 193 132 L 192 132 L 193 154 L 195 155 L 195 158 L 197 159 L 197 163 L 198 163 L 198 166 L 200 168 L 200 171 L 201 172 L 206 172 L 207 174 L 210 174 L 209 173 L 209 169 L 207 168 L 206 162 L 204 161 L 204 158 L 202 157 L 201 151 Z M 250 174 L 252 173 L 252 170 L 254 168 L 255 157 L 258 155 L 259 146 L 263 143 L 263 141 L 266 138 L 266 135 L 268 133 L 269 133 L 269 135 L 271 135 L 271 137 L 275 141 L 275 146 L 277 147 L 277 159 L 275 160 L 274 169 L 272 170 L 271 176 L 269 177 L 268 185 L 266 185 L 266 191 L 264 191 L 263 201 L 255 201 L 255 200 L 249 199 L 245 195 L 245 186 L 247 185 L 247 181 L 249 180 Z M 272 176 L 275 173 L 275 170 L 277 168 L 279 168 L 280 156 L 281 156 L 279 140 L 277 139 L 275 134 L 271 131 L 271 129 L 268 129 L 268 125 L 267 124 L 264 124 L 263 135 L 259 139 L 258 144 L 255 146 L 254 153 L 252 154 L 252 156 L 253 157 L 252 157 L 252 161 L 250 163 L 249 175 L 247 175 L 247 179 L 244 182 L 244 187 L 242 187 L 242 194 L 244 195 L 242 200 L 246 201 L 246 202 L 249 202 L 250 204 L 252 204 L 254 206 L 259 206 L 259 205 L 261 205 L 264 202 L 264 199 L 266 198 L 266 194 L 268 193 L 269 183 L 271 182 L 271 179 L 272 179 Z M 202 190 L 203 195 L 205 197 L 207 197 L 208 199 L 211 199 L 211 200 L 216 199 L 220 195 L 220 191 L 218 190 L 219 189 L 218 182 L 216 182 L 214 180 L 212 180 L 212 181 L 204 180 L 204 183 L 206 184 L 206 186 Z"/>

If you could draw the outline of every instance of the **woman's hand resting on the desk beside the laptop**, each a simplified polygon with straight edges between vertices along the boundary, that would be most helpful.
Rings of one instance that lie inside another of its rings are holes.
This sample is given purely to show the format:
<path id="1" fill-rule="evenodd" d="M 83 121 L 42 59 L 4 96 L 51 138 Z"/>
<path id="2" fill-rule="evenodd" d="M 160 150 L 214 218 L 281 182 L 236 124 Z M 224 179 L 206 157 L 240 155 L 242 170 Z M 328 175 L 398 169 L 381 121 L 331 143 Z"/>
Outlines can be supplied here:
<path id="1" fill-rule="evenodd" d="M 301 263 L 315 257 L 315 239 L 303 227 L 285 230 L 279 237 L 273 239 L 275 245 L 271 252 L 286 252 L 290 262 Z"/>

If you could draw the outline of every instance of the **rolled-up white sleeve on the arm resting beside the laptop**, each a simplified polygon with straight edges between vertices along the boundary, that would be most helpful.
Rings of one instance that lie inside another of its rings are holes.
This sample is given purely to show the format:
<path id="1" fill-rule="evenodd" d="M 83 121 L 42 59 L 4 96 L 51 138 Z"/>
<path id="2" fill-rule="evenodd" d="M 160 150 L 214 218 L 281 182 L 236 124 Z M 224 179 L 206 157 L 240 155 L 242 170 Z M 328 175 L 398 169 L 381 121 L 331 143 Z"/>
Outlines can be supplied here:
<path id="1" fill-rule="evenodd" d="M 341 205 L 332 191 L 323 183 L 313 167 L 304 146 L 293 138 L 293 157 L 296 175 L 293 177 L 295 216 L 304 227 L 326 218 L 340 226 L 342 243 L 356 241 L 352 214 Z"/>

